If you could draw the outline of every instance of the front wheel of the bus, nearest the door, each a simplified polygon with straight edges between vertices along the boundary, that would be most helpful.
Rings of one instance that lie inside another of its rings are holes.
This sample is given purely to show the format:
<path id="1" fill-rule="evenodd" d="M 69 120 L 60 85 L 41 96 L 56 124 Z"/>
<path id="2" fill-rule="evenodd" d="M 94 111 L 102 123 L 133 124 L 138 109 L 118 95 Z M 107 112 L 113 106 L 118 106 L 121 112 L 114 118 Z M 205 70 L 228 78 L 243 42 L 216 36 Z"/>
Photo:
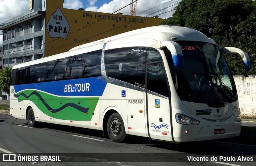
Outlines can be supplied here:
<path id="1" fill-rule="evenodd" d="M 124 140 L 126 135 L 124 129 L 124 122 L 119 113 L 113 113 L 110 115 L 107 123 L 107 131 L 110 139 L 116 143 L 120 143 Z"/>

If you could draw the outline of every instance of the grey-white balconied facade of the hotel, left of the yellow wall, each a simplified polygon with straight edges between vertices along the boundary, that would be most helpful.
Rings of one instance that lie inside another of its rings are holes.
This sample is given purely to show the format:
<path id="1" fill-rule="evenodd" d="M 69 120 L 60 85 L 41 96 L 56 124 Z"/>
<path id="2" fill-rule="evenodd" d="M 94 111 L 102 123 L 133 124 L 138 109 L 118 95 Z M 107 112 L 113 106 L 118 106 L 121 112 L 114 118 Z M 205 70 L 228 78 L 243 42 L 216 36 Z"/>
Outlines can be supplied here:
<path id="1" fill-rule="evenodd" d="M 30 10 L 0 25 L 2 68 L 44 57 L 45 0 L 30 0 Z"/>

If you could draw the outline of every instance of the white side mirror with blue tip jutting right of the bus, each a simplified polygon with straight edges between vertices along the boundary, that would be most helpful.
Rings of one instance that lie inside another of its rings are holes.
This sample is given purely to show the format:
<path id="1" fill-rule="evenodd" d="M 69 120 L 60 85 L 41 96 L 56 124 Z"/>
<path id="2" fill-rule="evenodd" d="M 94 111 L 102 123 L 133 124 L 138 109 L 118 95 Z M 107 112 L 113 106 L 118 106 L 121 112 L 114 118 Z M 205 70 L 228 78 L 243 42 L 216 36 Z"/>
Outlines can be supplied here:
<path id="1" fill-rule="evenodd" d="M 251 70 L 250 58 L 246 52 L 242 51 L 241 49 L 235 48 L 235 47 L 223 47 L 220 49 L 222 49 L 222 53 L 238 53 L 244 61 L 245 70 L 248 72 Z"/>

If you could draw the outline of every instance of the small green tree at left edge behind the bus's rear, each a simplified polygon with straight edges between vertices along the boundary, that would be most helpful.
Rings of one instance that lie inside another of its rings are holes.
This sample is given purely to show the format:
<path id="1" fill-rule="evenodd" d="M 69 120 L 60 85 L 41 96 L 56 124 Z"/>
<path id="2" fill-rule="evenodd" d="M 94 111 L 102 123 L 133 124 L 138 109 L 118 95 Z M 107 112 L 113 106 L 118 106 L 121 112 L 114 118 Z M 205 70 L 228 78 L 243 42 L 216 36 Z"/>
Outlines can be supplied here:
<path id="1" fill-rule="evenodd" d="M 10 94 L 11 71 L 12 68 L 10 67 L 4 67 L 3 70 L 0 70 L 0 89 L 7 94 Z"/>

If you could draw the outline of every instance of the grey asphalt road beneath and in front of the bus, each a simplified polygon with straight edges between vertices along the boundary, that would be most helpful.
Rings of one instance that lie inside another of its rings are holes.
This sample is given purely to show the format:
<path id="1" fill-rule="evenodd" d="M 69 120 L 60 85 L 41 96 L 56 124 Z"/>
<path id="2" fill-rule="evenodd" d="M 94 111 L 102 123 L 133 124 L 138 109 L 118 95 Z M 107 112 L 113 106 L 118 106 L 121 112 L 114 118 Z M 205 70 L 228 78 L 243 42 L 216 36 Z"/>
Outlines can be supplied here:
<path id="1" fill-rule="evenodd" d="M 0 162 L 1 166 L 255 166 L 256 145 L 246 144 L 229 140 L 173 144 L 134 136 L 126 138 L 124 143 L 114 143 L 104 138 L 102 131 L 47 123 L 30 128 L 26 120 L 0 114 L 0 153 L 14 153 L 16 156 L 52 154 L 60 156 L 61 160 Z M 202 160 L 203 157 L 226 157 L 220 162 L 189 162 L 192 156 Z M 239 156 L 249 157 L 253 162 L 237 162 Z M 235 161 L 230 161 L 232 157 Z"/>

